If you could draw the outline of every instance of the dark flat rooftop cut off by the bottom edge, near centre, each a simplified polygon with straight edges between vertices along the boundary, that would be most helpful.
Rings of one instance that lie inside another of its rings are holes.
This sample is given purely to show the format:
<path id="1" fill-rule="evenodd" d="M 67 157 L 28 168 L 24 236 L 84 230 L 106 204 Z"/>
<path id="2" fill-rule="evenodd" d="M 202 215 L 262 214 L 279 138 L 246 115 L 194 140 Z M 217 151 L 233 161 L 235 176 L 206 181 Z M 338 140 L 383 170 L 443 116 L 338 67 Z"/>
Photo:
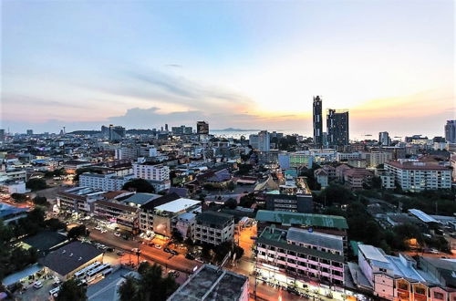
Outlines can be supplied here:
<path id="1" fill-rule="evenodd" d="M 244 275 L 219 269 L 214 265 L 202 265 L 168 300 L 239 300 L 248 285 Z"/>

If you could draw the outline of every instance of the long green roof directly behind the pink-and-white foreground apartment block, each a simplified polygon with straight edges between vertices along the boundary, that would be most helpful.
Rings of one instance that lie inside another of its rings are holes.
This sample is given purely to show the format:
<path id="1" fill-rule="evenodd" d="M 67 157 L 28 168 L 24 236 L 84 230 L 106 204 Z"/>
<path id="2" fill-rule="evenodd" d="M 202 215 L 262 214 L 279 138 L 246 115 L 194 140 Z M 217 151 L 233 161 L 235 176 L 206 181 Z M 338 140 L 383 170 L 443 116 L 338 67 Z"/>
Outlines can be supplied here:
<path id="1" fill-rule="evenodd" d="M 348 224 L 345 217 L 337 215 L 259 210 L 258 213 L 256 213 L 256 220 L 258 222 L 282 223 L 284 225 L 297 224 L 336 229 L 348 229 Z"/>

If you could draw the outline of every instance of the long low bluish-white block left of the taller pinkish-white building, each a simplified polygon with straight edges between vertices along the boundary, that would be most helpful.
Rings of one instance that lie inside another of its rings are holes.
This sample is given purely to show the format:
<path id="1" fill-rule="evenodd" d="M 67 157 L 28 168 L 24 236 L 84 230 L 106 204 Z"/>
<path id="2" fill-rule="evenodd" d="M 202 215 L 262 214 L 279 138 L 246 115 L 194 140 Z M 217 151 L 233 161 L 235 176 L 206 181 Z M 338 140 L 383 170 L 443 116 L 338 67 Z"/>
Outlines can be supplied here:
<path id="1" fill-rule="evenodd" d="M 79 187 L 90 187 L 105 192 L 114 192 L 121 190 L 123 185 L 132 178 L 132 174 L 119 177 L 115 173 L 98 174 L 88 172 L 79 175 Z"/>

